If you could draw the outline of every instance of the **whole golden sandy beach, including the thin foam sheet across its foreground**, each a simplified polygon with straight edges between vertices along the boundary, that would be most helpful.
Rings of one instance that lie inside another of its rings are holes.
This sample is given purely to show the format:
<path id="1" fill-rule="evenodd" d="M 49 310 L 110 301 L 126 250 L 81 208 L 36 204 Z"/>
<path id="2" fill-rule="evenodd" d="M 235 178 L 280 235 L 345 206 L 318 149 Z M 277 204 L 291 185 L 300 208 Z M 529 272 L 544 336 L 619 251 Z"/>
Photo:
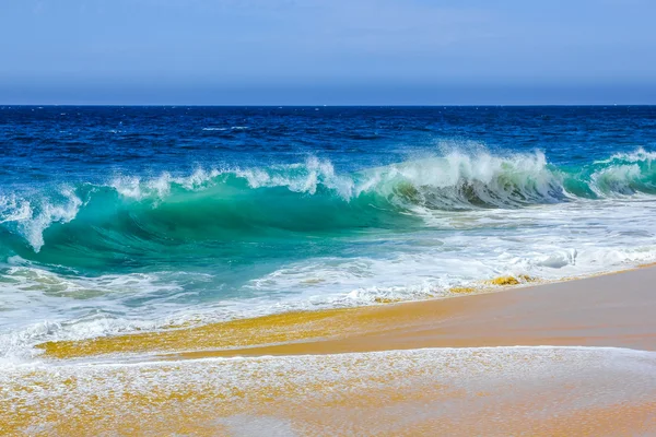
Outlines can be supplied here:
<path id="1" fill-rule="evenodd" d="M 649 267 L 448 299 L 47 343 L 42 364 L 3 376 L 0 429 L 651 435 L 655 280 Z"/>

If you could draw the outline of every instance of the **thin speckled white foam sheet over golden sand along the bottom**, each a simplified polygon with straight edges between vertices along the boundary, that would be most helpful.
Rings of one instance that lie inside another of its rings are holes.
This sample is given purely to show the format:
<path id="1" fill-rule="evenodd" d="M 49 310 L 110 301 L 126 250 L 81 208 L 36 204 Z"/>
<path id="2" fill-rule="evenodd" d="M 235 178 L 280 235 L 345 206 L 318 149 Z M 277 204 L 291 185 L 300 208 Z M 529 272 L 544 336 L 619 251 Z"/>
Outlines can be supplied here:
<path id="1" fill-rule="evenodd" d="M 265 435 L 269 427 L 342 435 L 407 433 L 427 422 L 461 434 L 485 433 L 462 428 L 483 425 L 488 433 L 547 434 L 558 421 L 582 426 L 589 411 L 619 414 L 621 422 L 622 409 L 648 409 L 655 371 L 652 352 L 546 346 L 32 364 L 0 373 L 0 426 L 10 433 L 40 426 L 46 435 L 225 427 L 236 435 Z M 653 410 L 645 411 L 632 425 L 648 426 Z"/>

